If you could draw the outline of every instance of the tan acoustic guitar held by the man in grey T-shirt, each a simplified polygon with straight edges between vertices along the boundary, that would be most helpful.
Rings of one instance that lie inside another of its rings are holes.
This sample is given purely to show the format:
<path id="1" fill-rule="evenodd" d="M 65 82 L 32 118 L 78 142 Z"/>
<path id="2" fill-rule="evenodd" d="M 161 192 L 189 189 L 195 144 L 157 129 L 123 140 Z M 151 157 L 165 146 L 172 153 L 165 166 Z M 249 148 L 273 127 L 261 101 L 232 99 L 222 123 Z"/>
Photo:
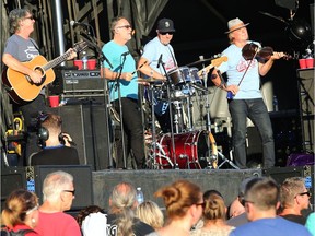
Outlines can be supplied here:
<path id="1" fill-rule="evenodd" d="M 73 51 L 80 52 L 85 49 L 88 44 L 79 42 L 74 44 Z M 36 56 L 31 61 L 22 62 L 25 67 L 42 74 L 42 82 L 39 84 L 33 83 L 31 78 L 24 73 L 7 68 L 2 73 L 2 83 L 8 91 L 9 96 L 16 103 L 22 104 L 35 99 L 40 90 L 55 80 L 54 67 L 63 62 L 71 51 L 68 51 L 54 60 L 47 62 L 43 56 Z"/>

